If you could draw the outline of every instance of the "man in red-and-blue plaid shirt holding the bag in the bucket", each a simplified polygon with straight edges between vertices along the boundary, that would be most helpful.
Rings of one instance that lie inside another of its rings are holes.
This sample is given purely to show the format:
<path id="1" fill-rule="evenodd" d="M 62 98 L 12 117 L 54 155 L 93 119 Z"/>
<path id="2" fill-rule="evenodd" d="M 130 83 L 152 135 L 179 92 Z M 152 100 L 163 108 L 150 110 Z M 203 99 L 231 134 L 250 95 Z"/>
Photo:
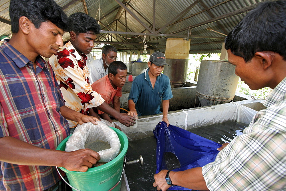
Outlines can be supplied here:
<path id="1" fill-rule="evenodd" d="M 0 46 L 0 190 L 56 189 L 55 166 L 86 172 L 99 160 L 89 149 L 56 151 L 67 120 L 96 118 L 64 105 L 55 75 L 41 56 L 63 46 L 68 17 L 53 0 L 11 0 L 9 41 Z M 41 56 L 40 56 L 41 55 Z"/>

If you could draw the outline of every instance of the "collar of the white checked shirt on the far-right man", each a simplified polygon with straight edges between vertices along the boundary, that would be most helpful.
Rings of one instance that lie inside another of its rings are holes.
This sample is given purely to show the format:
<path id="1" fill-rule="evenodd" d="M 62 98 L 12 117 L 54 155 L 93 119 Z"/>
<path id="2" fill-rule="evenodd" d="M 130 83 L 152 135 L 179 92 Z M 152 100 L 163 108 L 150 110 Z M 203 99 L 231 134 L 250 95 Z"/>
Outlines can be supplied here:
<path id="1" fill-rule="evenodd" d="M 265 107 L 270 107 L 273 104 L 279 102 L 286 93 L 286 77 L 269 93 L 263 105 Z"/>

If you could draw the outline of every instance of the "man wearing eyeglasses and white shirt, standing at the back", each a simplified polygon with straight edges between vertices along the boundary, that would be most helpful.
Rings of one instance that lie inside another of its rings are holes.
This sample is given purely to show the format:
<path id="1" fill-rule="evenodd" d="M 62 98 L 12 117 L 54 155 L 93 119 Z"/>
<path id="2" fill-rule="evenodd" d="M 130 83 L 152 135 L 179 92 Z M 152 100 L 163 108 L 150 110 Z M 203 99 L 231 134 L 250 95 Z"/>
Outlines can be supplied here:
<path id="1" fill-rule="evenodd" d="M 112 45 L 105 45 L 102 48 L 102 58 L 87 63 L 90 71 L 90 84 L 108 74 L 108 66 L 117 60 L 117 50 Z"/>

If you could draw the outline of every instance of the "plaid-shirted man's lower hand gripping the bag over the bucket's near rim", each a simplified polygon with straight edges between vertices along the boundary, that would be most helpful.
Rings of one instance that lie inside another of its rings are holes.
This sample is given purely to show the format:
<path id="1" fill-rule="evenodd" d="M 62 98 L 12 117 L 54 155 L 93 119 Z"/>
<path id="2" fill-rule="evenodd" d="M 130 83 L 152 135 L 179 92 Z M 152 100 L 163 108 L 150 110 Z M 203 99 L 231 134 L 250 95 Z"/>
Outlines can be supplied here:
<path id="1" fill-rule="evenodd" d="M 60 167 L 67 170 L 86 172 L 88 168 L 96 164 L 100 156 L 97 152 L 90 149 L 80 149 L 72 152 L 65 152 L 61 157 L 63 163 Z"/>

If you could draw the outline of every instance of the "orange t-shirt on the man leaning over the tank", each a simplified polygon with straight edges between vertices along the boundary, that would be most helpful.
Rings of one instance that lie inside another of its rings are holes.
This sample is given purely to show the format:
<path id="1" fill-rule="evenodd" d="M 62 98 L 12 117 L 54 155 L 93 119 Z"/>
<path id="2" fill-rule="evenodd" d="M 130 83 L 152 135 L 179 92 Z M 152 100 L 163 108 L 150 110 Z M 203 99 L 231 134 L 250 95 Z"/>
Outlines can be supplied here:
<path id="1" fill-rule="evenodd" d="M 96 91 L 101 95 L 101 97 L 104 99 L 104 101 L 107 104 L 110 104 L 110 102 L 113 100 L 114 96 L 121 97 L 121 87 L 116 87 L 114 89 L 110 83 L 110 80 L 108 78 L 108 75 L 100 78 L 99 80 L 95 81 L 92 85 L 92 90 Z M 98 110 L 98 114 L 104 114 L 104 112 Z"/>

